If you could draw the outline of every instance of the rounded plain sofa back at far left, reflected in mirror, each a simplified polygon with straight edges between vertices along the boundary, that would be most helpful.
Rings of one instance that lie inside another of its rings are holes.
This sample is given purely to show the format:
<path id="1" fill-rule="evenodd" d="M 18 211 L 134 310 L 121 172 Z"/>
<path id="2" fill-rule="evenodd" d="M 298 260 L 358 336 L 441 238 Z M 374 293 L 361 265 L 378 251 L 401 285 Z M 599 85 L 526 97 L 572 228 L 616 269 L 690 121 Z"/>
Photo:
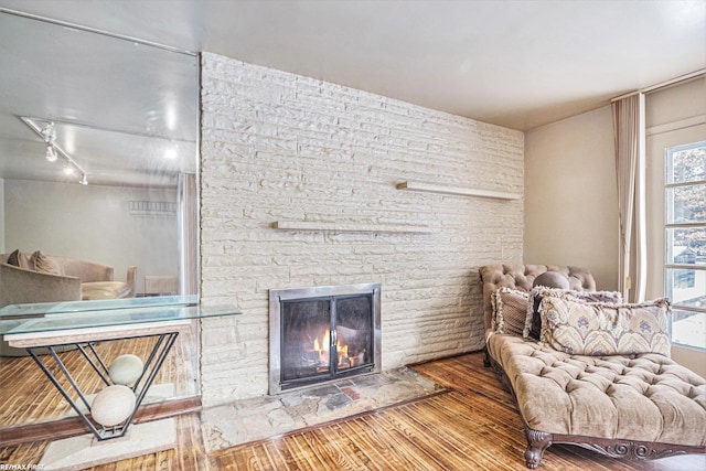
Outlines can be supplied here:
<path id="1" fill-rule="evenodd" d="M 0 264 L 0 307 L 28 302 L 79 301 L 81 279 Z"/>

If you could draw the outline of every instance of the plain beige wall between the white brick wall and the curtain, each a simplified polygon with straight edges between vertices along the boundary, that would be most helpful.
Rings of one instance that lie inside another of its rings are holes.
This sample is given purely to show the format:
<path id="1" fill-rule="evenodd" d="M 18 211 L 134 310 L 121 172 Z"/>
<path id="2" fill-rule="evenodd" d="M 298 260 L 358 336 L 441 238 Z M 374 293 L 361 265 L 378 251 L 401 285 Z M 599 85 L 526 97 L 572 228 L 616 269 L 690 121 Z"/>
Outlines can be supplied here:
<path id="1" fill-rule="evenodd" d="M 526 264 L 585 266 L 618 288 L 614 165 L 610 106 L 526 133 Z"/>

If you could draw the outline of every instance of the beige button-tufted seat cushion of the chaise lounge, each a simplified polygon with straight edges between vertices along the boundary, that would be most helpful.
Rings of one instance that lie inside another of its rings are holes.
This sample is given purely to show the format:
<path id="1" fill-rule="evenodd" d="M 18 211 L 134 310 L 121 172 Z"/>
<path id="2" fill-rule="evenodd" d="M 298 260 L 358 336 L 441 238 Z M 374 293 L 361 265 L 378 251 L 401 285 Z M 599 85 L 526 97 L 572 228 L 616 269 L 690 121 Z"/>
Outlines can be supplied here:
<path id="1" fill-rule="evenodd" d="M 488 350 L 534 430 L 706 446 L 706 381 L 664 355 L 570 355 L 500 334 Z"/>

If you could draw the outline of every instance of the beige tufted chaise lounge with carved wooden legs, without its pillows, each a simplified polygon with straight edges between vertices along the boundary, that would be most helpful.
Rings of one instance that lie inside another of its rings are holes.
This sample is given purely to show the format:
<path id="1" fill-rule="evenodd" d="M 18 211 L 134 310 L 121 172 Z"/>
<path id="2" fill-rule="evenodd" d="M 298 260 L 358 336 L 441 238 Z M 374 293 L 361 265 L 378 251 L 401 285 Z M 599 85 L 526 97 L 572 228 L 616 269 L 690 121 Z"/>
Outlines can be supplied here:
<path id="1" fill-rule="evenodd" d="M 574 290 L 595 290 L 586 269 L 493 265 L 480 269 L 486 361 L 515 397 L 525 422 L 528 468 L 552 443 L 574 443 L 614 458 L 656 459 L 706 452 L 706 382 L 657 353 L 571 355 L 492 330 L 491 295 L 530 291 L 544 271 L 561 271 Z"/>

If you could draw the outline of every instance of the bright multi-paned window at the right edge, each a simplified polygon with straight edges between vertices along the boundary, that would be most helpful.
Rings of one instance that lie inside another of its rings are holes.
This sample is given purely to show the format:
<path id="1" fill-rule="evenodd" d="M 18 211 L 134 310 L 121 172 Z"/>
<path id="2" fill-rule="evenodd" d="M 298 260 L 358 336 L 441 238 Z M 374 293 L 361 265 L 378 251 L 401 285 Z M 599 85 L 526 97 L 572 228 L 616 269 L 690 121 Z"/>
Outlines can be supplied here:
<path id="1" fill-rule="evenodd" d="M 706 141 L 665 151 L 664 282 L 672 342 L 706 349 Z"/>

